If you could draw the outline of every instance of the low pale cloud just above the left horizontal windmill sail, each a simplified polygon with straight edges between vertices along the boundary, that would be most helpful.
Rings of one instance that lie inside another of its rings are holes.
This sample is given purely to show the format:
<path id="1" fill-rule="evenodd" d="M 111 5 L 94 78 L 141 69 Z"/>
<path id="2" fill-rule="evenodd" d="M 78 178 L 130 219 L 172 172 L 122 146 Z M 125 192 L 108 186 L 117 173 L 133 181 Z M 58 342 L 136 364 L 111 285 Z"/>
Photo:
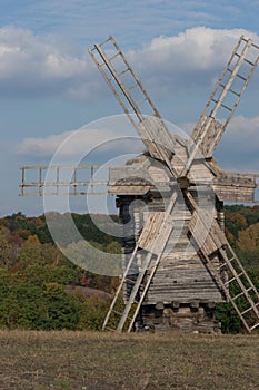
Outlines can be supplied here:
<path id="1" fill-rule="evenodd" d="M 60 164 L 77 156 L 91 156 L 102 159 L 104 155 L 140 153 L 142 143 L 124 115 L 102 118 L 79 130 L 64 131 L 44 138 L 24 138 L 16 148 L 18 155 L 32 158 L 59 156 Z M 57 158 L 56 158 L 57 159 Z"/>

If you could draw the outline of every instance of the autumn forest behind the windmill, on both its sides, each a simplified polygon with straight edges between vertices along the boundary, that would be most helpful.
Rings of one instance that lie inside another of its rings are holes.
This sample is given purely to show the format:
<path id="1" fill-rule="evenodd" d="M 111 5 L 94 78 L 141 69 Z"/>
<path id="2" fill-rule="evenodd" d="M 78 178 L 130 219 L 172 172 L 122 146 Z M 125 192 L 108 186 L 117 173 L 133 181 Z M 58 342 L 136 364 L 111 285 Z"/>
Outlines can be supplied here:
<path id="1" fill-rule="evenodd" d="M 259 206 L 226 206 L 226 234 L 259 290 Z M 72 214 L 81 235 L 104 252 L 120 242 L 100 231 L 90 215 Z M 94 215 L 99 226 L 103 215 Z M 112 218 L 118 222 L 117 216 Z M 59 251 L 44 215 L 0 218 L 0 329 L 100 330 L 119 279 L 83 270 Z M 242 332 L 230 304 L 219 304 L 225 333 Z"/>

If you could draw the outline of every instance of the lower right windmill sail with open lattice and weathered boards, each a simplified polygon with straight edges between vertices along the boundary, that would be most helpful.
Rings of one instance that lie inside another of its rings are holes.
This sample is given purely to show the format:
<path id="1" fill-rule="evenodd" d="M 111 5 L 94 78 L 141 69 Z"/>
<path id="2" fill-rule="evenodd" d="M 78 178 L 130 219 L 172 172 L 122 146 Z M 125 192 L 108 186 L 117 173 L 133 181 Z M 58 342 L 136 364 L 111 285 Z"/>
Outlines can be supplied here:
<path id="1" fill-rule="evenodd" d="M 251 333 L 259 326 L 259 293 L 217 221 L 212 220 L 211 222 L 211 218 L 206 215 L 206 211 L 198 212 L 198 206 L 190 193 L 187 194 L 187 197 L 193 208 L 189 230 L 198 246 L 198 252 L 231 302 L 246 330 Z M 208 222 L 211 226 L 208 225 Z M 205 234 L 208 234 L 206 238 Z M 212 261 L 216 252 L 220 254 L 221 263 L 219 266 Z M 228 272 L 227 280 L 220 276 L 221 271 Z"/>

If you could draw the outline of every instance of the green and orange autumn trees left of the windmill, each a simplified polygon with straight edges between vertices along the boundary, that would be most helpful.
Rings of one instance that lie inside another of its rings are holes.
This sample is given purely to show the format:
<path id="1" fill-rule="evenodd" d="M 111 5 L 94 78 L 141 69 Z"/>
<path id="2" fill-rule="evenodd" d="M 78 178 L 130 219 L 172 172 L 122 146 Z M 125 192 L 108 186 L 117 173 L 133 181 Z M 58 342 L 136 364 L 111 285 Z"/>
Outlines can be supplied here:
<path id="1" fill-rule="evenodd" d="M 98 230 L 89 215 L 73 218 L 86 240 L 120 252 L 118 241 Z M 96 218 L 107 224 L 106 216 Z M 0 328 L 98 330 L 117 285 L 117 277 L 93 274 L 67 260 L 44 215 L 0 218 Z"/>

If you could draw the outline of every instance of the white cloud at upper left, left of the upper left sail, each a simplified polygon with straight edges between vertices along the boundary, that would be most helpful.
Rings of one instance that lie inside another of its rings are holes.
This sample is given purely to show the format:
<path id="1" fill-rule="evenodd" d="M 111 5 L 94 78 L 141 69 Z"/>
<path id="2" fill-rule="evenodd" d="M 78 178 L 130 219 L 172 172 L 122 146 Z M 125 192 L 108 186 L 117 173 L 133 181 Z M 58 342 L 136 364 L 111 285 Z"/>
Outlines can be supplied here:
<path id="1" fill-rule="evenodd" d="M 4 95 L 66 92 L 88 82 L 91 74 L 87 55 L 76 57 L 51 36 L 34 36 L 30 30 L 0 29 L 0 85 Z"/>

